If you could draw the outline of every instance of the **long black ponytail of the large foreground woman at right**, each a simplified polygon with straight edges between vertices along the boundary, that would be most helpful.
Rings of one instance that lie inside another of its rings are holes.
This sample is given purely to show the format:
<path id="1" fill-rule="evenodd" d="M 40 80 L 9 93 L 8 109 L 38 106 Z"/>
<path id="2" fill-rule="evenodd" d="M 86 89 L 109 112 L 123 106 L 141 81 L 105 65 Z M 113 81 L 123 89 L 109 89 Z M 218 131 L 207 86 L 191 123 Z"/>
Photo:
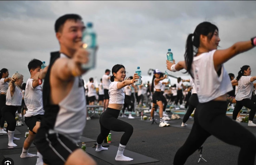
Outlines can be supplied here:
<path id="1" fill-rule="evenodd" d="M 195 36 L 194 34 L 189 34 L 187 37 L 186 41 L 186 51 L 184 54 L 186 66 L 187 66 L 187 71 L 185 73 L 189 73 L 191 77 L 194 79 L 194 76 L 191 72 L 191 67 L 192 67 L 192 62 L 193 62 L 193 57 L 194 57 L 194 51 L 193 51 L 193 40 L 192 37 Z M 194 37 L 195 39 L 195 37 Z"/>

